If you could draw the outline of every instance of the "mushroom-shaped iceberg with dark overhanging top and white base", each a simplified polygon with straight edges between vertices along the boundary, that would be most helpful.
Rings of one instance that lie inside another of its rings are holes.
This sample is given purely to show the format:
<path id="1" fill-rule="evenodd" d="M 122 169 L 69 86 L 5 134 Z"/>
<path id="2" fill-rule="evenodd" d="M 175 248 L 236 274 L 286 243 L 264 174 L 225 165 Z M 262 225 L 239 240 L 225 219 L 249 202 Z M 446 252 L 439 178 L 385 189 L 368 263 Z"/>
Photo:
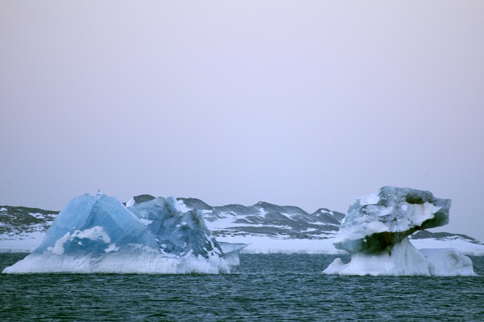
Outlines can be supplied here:
<path id="1" fill-rule="evenodd" d="M 351 261 L 336 258 L 324 274 L 391 276 L 476 276 L 472 261 L 457 249 L 416 249 L 408 236 L 449 222 L 451 200 L 429 191 L 382 187 L 357 198 L 335 240 Z"/>

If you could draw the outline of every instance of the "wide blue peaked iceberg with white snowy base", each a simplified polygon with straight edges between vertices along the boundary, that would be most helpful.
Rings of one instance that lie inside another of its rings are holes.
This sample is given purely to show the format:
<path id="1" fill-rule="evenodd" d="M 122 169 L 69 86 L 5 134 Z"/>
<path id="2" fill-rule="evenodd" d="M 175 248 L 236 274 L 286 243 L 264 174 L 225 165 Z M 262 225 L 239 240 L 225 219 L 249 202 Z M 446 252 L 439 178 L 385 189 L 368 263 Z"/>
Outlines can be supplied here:
<path id="1" fill-rule="evenodd" d="M 79 196 L 41 245 L 3 273 L 230 273 L 243 246 L 226 256 L 201 211 L 180 208 L 175 198 L 124 207 L 100 193 Z"/>

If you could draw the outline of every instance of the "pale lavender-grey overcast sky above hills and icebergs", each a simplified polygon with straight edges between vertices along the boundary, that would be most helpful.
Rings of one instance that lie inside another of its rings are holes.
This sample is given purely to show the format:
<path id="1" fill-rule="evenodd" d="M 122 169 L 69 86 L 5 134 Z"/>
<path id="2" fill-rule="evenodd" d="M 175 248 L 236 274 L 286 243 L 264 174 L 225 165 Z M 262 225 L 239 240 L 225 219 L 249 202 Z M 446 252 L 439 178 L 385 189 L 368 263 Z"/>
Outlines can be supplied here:
<path id="1" fill-rule="evenodd" d="M 451 198 L 484 240 L 484 1 L 0 1 L 0 205 L 346 212 Z"/>

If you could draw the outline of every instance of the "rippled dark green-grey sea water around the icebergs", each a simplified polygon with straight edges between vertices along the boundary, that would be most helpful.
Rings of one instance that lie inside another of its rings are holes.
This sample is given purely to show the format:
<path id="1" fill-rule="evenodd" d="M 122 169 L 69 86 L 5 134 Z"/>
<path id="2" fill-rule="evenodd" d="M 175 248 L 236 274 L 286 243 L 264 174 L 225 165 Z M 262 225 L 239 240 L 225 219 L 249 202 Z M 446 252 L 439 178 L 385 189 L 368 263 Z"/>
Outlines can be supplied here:
<path id="1" fill-rule="evenodd" d="M 0 254 L 0 271 L 24 256 Z M 0 321 L 484 321 L 483 256 L 478 277 L 321 274 L 335 257 L 241 255 L 226 275 L 0 274 Z"/>

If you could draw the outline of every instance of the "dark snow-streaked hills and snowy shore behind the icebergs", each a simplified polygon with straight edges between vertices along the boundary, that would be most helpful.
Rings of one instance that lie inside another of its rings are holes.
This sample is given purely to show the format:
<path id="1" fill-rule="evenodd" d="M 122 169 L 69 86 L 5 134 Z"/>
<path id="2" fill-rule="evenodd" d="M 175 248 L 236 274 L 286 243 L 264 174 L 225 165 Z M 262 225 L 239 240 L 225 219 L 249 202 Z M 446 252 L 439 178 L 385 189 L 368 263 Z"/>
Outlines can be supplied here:
<path id="1" fill-rule="evenodd" d="M 136 205 L 154 199 L 140 195 L 127 202 Z M 333 237 L 344 214 L 326 208 L 312 214 L 294 206 L 257 202 L 252 206 L 213 207 L 196 198 L 177 198 L 180 211 L 200 209 L 217 240 L 245 243 L 245 253 L 341 254 Z M 30 252 L 40 245 L 59 211 L 0 206 L 0 252 Z M 470 255 L 484 255 L 484 243 L 465 235 L 418 231 L 411 237 L 417 248 L 454 247 Z"/>

